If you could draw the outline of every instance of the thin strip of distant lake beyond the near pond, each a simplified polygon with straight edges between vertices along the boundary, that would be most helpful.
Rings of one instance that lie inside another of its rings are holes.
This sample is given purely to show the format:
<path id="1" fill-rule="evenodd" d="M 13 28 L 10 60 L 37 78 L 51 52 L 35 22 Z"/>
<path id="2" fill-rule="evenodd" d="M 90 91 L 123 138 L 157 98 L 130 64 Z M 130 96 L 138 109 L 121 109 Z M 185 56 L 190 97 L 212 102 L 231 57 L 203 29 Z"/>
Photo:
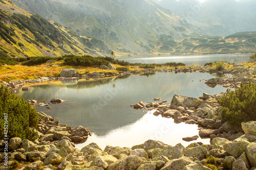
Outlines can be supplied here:
<path id="1" fill-rule="evenodd" d="M 197 55 L 197 56 L 168 56 L 168 57 L 130 57 L 118 58 L 130 63 L 162 64 L 167 62 L 182 62 L 186 65 L 204 65 L 209 62 L 226 61 L 233 63 L 248 62 L 251 54 L 227 54 L 227 55 Z"/>

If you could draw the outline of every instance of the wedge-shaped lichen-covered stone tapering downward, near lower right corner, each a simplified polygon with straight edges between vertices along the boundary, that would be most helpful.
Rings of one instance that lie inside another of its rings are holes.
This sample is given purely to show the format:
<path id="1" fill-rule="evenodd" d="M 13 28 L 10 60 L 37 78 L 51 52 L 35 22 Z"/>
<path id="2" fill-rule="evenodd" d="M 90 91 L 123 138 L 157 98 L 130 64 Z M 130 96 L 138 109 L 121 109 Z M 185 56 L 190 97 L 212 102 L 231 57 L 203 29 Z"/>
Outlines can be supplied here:
<path id="1" fill-rule="evenodd" d="M 240 139 L 224 144 L 223 148 L 231 156 L 233 156 L 234 158 L 238 158 L 245 152 L 245 149 L 249 143 L 250 142 L 248 142 L 247 140 Z"/>

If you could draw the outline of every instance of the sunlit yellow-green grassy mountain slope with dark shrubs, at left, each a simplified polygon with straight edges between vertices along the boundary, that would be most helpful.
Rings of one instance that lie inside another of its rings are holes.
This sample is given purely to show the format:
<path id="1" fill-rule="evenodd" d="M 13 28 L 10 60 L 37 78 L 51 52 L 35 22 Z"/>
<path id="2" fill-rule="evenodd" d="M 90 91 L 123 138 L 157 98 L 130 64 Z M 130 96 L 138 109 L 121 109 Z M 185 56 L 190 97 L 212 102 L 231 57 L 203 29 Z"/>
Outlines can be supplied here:
<path id="1" fill-rule="evenodd" d="M 79 36 L 10 3 L 0 1 L 0 55 L 12 57 L 102 55 L 108 47 L 100 40 Z"/>

